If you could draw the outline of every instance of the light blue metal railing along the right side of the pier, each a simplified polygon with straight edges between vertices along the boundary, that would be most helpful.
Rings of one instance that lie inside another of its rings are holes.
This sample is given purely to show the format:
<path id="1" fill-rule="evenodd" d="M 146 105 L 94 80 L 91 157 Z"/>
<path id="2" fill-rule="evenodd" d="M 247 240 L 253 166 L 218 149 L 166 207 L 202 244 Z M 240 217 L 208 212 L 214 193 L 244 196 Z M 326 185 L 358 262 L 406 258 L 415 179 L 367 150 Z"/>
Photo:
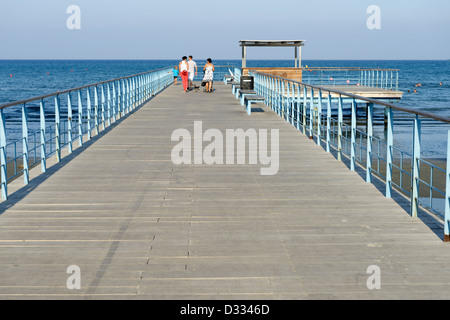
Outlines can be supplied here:
<path id="1" fill-rule="evenodd" d="M 373 175 L 384 180 L 386 197 L 392 197 L 393 188 L 409 197 L 411 216 L 417 217 L 419 206 L 439 215 L 444 220 L 444 239 L 450 241 L 450 130 L 446 169 L 421 158 L 421 120 L 449 125 L 450 118 L 254 70 L 249 74 L 254 76 L 256 92 L 280 117 L 315 139 L 318 145 L 325 143 L 327 152 L 334 149 L 339 161 L 347 157 L 350 170 L 355 171 L 356 165 L 360 165 L 366 171 L 368 183 L 372 183 Z M 351 110 L 347 121 L 344 104 L 350 105 Z M 357 125 L 358 104 L 366 106 L 365 131 Z M 385 140 L 374 136 L 375 106 L 384 110 Z M 337 117 L 333 117 L 332 111 L 336 109 Z M 413 122 L 412 153 L 394 146 L 393 110 L 414 116 L 406 120 Z M 436 197 L 443 200 L 443 206 L 436 205 L 439 202 Z"/>

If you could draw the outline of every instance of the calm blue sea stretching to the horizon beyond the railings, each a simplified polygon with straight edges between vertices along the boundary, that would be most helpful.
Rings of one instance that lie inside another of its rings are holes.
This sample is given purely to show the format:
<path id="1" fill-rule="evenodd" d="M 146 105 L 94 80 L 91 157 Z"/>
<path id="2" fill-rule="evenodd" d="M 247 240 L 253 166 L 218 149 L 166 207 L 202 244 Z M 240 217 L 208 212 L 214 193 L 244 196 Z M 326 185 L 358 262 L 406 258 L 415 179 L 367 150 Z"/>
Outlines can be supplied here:
<path id="1" fill-rule="evenodd" d="M 201 66 L 205 61 L 197 61 Z M 178 60 L 90 61 L 90 60 L 0 60 L 0 104 L 53 93 L 86 84 L 175 65 Z M 240 65 L 240 60 L 217 60 L 216 65 Z M 249 67 L 292 67 L 290 60 L 249 60 Z M 404 92 L 399 105 L 450 117 L 450 61 L 302 61 L 309 67 L 365 67 L 400 69 L 399 90 Z M 439 83 L 442 82 L 442 85 Z M 415 88 L 416 83 L 422 86 Z M 417 89 L 417 93 L 413 93 Z M 408 90 L 410 93 L 408 93 Z M 19 116 L 18 113 L 16 116 Z M 15 117 L 11 113 L 11 117 Z M 395 114 L 396 119 L 408 118 Z M 11 119 L 12 120 L 12 119 Z M 412 121 L 395 127 L 396 144 L 411 149 Z M 429 157 L 445 157 L 449 126 L 424 121 L 423 152 Z M 383 128 L 376 134 L 383 136 Z"/>

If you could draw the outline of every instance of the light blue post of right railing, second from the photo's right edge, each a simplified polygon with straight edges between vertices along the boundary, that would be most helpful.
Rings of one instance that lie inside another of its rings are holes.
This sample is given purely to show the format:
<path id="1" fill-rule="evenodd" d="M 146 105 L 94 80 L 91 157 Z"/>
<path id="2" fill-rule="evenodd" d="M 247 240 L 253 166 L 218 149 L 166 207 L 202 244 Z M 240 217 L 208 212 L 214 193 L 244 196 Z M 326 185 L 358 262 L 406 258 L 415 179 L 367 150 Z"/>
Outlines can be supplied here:
<path id="1" fill-rule="evenodd" d="M 420 186 L 420 152 L 421 152 L 421 120 L 416 115 L 413 130 L 413 158 L 411 176 L 411 217 L 417 218 L 419 212 L 419 186 Z"/>

